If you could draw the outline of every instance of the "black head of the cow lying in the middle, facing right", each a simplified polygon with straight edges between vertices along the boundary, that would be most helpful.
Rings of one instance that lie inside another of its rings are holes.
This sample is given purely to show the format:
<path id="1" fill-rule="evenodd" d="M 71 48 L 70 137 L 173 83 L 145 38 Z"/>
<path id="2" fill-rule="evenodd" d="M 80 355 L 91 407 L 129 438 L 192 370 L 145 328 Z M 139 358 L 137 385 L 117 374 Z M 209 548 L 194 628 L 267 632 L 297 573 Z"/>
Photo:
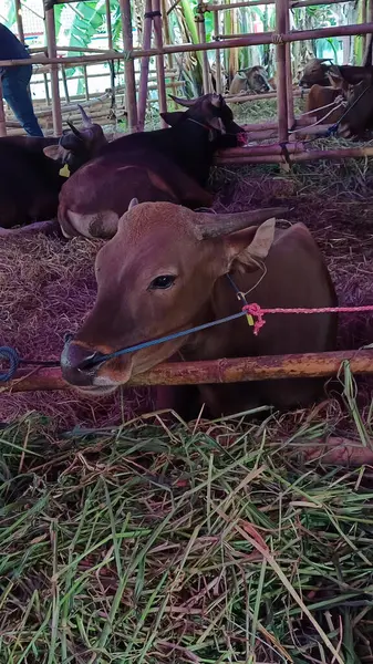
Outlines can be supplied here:
<path id="1" fill-rule="evenodd" d="M 244 133 L 242 127 L 236 124 L 234 114 L 221 94 L 210 93 L 197 100 L 184 100 L 169 95 L 177 104 L 185 106 L 186 112 L 160 113 L 164 121 L 170 126 L 185 131 L 184 123 L 189 121 L 209 129 L 211 142 L 219 142 L 221 136 L 231 136 L 231 146 L 237 145 L 237 136 Z M 226 143 L 226 142 L 225 142 Z M 228 145 L 227 145 L 228 147 Z"/>

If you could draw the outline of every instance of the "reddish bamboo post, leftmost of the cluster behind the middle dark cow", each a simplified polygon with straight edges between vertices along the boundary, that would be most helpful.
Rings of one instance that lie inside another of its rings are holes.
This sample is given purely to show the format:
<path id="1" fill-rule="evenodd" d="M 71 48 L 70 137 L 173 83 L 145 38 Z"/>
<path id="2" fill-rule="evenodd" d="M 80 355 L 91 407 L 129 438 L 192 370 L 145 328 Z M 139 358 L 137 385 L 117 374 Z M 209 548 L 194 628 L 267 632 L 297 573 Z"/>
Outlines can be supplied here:
<path id="1" fill-rule="evenodd" d="M 131 56 L 133 50 L 131 0 L 120 0 L 122 24 L 123 24 L 123 49 L 124 58 L 124 82 L 126 94 L 126 111 L 129 132 L 137 131 L 137 105 L 136 105 L 136 79 L 134 60 Z"/>

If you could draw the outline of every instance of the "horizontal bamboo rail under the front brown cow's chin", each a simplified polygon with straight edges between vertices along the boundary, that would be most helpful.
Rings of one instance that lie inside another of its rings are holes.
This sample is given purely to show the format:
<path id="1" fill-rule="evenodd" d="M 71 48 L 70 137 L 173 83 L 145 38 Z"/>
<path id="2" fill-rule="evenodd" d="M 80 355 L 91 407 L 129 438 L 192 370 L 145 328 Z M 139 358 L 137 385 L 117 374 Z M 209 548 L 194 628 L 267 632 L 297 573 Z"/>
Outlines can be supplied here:
<path id="1" fill-rule="evenodd" d="M 134 376 L 128 386 L 138 385 L 203 385 L 240 383 L 267 378 L 327 377 L 336 375 L 344 361 L 354 374 L 373 374 L 373 350 L 266 355 L 204 362 L 173 362 Z M 3 384 L 3 390 L 32 392 L 66 390 L 60 369 L 22 369 L 15 378 Z"/>

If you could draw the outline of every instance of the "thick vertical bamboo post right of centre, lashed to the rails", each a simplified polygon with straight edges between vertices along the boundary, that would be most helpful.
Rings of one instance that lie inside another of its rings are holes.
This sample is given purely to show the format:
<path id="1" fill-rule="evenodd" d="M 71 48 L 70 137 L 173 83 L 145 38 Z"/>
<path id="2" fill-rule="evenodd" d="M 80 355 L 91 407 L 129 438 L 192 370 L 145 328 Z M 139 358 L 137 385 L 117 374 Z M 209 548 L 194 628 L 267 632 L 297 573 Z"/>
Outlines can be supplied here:
<path id="1" fill-rule="evenodd" d="M 279 143 L 288 142 L 287 45 L 281 34 L 287 30 L 288 0 L 276 0 L 276 61 Z"/>

